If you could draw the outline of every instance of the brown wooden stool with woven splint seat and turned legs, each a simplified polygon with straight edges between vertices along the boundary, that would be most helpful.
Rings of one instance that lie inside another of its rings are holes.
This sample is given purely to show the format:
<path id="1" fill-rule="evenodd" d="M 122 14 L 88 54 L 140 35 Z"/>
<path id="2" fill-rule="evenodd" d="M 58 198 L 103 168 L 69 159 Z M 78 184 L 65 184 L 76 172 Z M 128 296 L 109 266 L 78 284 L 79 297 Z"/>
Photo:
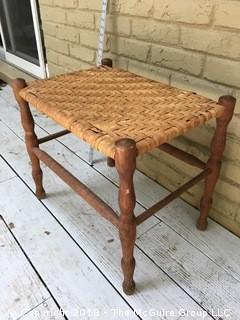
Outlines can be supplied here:
<path id="1" fill-rule="evenodd" d="M 123 254 L 123 290 L 126 294 L 132 294 L 135 288 L 133 273 L 136 227 L 203 179 L 205 188 L 197 227 L 200 230 L 206 229 L 214 188 L 220 174 L 227 126 L 236 103 L 235 98 L 223 96 L 216 103 L 192 92 L 107 66 L 38 80 L 29 86 L 24 80 L 17 79 L 13 82 L 13 90 L 21 110 L 27 151 L 36 184 L 36 196 L 39 199 L 45 197 L 41 160 L 119 229 Z M 66 130 L 38 139 L 28 103 Z M 201 126 L 212 118 L 217 118 L 217 127 L 207 163 L 168 144 L 173 138 Z M 104 153 L 110 165 L 116 164 L 120 180 L 120 216 L 39 148 L 40 144 L 70 132 L 89 143 L 92 148 Z M 133 184 L 136 158 L 139 154 L 156 147 L 202 171 L 136 217 Z"/>

